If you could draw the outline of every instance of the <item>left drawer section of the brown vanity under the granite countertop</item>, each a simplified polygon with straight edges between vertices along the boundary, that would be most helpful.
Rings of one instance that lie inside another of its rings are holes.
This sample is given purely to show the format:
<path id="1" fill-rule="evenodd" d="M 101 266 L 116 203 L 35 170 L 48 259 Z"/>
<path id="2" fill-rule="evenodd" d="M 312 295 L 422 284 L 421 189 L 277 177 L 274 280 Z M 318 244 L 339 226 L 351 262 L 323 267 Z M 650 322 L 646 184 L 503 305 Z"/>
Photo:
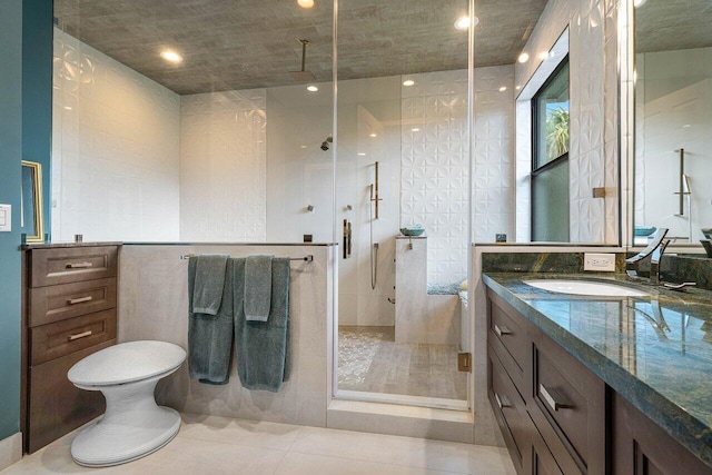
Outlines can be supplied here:
<path id="1" fill-rule="evenodd" d="M 490 399 L 517 473 L 605 474 L 605 384 L 490 290 L 487 317 Z M 501 380 L 521 395 L 515 424 Z"/>

